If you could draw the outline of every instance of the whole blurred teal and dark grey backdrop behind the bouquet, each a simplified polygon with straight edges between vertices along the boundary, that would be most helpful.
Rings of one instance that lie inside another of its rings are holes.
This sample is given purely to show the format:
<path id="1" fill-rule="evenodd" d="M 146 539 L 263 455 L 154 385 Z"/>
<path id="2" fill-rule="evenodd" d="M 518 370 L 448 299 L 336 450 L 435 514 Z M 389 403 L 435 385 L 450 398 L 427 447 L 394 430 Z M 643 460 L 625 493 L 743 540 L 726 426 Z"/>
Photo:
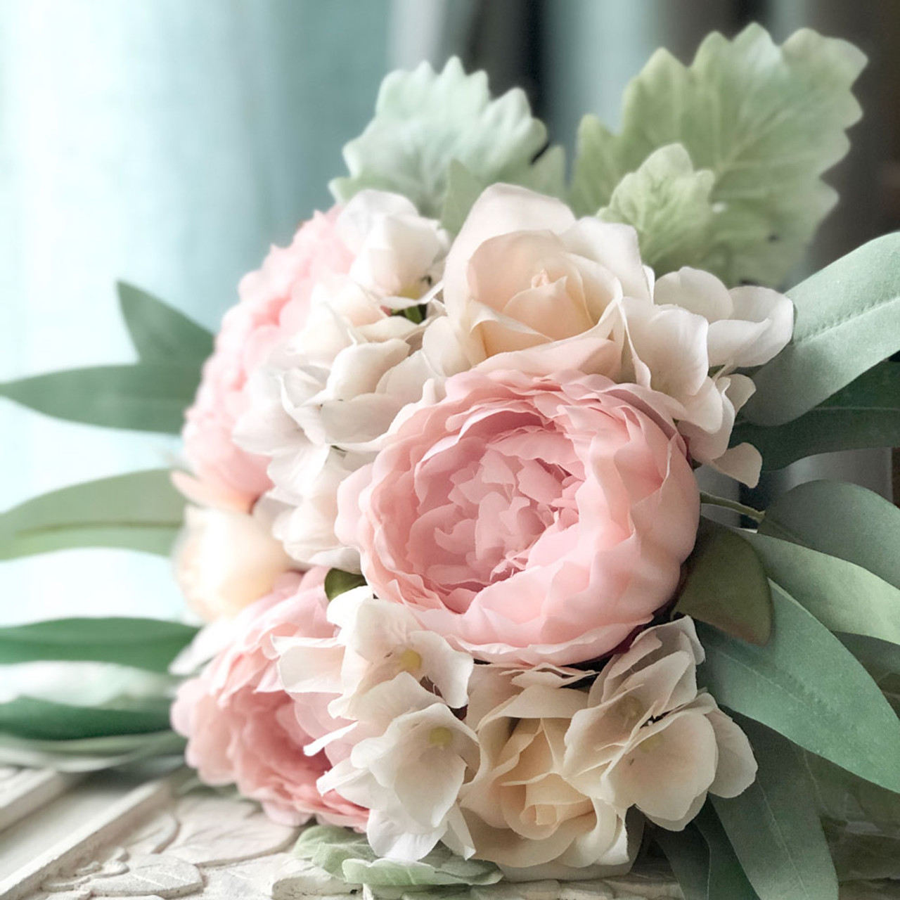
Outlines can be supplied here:
<path id="1" fill-rule="evenodd" d="M 897 0 L 0 0 L 0 380 L 130 360 L 117 279 L 215 328 L 240 275 L 329 205 L 340 148 L 392 68 L 459 55 L 495 93 L 524 87 L 571 147 L 584 112 L 617 125 L 654 48 L 689 61 L 707 31 L 752 21 L 778 41 L 812 26 L 870 59 L 812 271 L 900 227 Z M 0 509 L 176 452 L 0 400 Z M 883 451 L 798 464 L 761 490 L 823 475 L 892 491 Z M 156 557 L 0 565 L 4 623 L 181 608 Z"/>

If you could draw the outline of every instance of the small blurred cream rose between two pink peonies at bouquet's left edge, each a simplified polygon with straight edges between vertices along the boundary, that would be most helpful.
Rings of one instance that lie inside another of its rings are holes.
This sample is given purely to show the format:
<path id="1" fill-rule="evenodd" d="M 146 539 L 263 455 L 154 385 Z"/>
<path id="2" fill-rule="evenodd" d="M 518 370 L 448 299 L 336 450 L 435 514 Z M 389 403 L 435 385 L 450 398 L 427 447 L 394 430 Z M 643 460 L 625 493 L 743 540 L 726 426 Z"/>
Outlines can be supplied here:
<path id="1" fill-rule="evenodd" d="M 184 531 L 175 547 L 175 578 L 190 606 L 208 622 L 234 617 L 268 594 L 293 568 L 271 523 L 231 509 L 184 509 Z"/>

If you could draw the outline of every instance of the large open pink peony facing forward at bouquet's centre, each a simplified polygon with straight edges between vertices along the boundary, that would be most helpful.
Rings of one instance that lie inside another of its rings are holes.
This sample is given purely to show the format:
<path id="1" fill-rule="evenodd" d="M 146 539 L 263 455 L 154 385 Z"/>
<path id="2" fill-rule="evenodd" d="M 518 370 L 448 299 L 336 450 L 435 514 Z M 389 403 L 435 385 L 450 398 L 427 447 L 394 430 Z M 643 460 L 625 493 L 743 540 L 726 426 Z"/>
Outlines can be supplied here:
<path id="1" fill-rule="evenodd" d="M 697 533 L 653 400 L 602 375 L 455 375 L 342 485 L 338 537 L 380 597 L 482 660 L 608 653 L 671 598 Z"/>

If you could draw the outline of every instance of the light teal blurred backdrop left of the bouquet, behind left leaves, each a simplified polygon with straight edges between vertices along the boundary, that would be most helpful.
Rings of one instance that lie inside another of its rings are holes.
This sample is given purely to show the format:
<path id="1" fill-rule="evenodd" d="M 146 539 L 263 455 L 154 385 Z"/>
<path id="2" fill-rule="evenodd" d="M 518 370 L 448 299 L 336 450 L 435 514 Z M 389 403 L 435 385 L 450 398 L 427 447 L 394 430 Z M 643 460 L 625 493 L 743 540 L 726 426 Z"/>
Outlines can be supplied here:
<path id="1" fill-rule="evenodd" d="M 113 284 L 214 327 L 329 204 L 387 63 L 388 0 L 0 0 L 0 379 L 130 359 Z M 0 509 L 177 444 L 0 403 Z M 0 567 L 0 620 L 176 613 L 168 563 Z"/>

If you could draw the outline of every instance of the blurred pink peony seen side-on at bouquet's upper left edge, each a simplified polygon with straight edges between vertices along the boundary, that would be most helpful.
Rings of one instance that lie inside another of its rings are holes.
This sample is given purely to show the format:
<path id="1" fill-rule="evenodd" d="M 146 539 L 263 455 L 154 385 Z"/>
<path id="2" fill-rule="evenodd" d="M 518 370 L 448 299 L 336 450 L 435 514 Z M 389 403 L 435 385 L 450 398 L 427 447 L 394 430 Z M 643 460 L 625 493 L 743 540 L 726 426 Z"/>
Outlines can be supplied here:
<path id="1" fill-rule="evenodd" d="M 235 445 L 231 433 L 247 410 L 247 375 L 281 338 L 306 322 L 315 284 L 345 275 L 354 260 L 338 237 L 335 207 L 304 222 L 290 247 L 272 247 L 263 266 L 245 275 L 240 302 L 225 313 L 216 348 L 203 366 L 200 390 L 184 424 L 184 453 L 201 481 L 221 500 L 245 508 L 268 490 L 266 457 Z"/>

